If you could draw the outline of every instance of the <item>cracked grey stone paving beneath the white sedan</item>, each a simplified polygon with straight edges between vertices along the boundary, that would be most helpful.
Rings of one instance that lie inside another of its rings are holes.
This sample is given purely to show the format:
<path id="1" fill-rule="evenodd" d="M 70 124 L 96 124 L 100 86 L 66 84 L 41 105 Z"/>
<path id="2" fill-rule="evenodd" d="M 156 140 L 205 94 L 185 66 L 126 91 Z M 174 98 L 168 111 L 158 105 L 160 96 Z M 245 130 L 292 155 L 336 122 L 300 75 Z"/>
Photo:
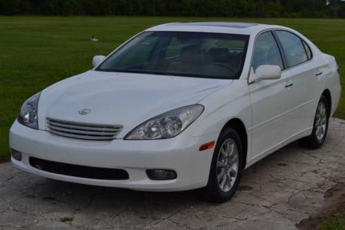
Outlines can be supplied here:
<path id="1" fill-rule="evenodd" d="M 144 193 L 21 173 L 0 164 L 0 229 L 296 229 L 317 213 L 324 193 L 345 182 L 345 121 L 331 119 L 324 146 L 297 143 L 244 172 L 224 204 L 193 191 Z"/>

